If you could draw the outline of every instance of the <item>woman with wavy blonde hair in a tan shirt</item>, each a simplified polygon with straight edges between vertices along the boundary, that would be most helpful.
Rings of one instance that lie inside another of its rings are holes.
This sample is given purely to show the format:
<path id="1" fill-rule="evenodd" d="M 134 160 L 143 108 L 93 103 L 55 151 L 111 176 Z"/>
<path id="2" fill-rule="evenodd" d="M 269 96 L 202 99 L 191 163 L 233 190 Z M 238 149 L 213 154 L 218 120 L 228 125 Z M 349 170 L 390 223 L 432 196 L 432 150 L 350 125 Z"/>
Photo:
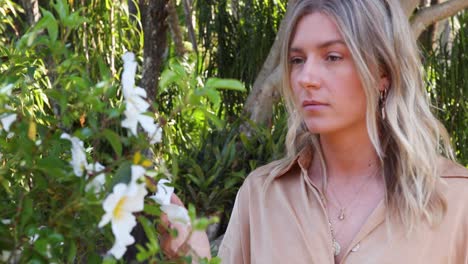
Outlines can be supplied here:
<path id="1" fill-rule="evenodd" d="M 289 15 L 287 155 L 245 180 L 222 263 L 468 263 L 468 172 L 442 157 L 398 1 L 299 0 Z"/>

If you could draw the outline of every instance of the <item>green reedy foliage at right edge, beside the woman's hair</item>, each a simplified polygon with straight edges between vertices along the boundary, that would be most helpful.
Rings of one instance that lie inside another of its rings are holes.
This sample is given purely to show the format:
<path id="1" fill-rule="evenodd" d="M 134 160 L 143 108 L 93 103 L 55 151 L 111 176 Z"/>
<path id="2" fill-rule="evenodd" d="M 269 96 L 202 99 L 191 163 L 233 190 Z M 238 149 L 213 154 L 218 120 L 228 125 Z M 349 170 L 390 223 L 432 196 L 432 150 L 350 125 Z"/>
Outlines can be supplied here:
<path id="1" fill-rule="evenodd" d="M 468 166 L 468 12 L 452 19 L 452 25 L 458 23 L 451 42 L 426 51 L 425 67 L 434 110 L 451 135 L 458 161 Z"/>

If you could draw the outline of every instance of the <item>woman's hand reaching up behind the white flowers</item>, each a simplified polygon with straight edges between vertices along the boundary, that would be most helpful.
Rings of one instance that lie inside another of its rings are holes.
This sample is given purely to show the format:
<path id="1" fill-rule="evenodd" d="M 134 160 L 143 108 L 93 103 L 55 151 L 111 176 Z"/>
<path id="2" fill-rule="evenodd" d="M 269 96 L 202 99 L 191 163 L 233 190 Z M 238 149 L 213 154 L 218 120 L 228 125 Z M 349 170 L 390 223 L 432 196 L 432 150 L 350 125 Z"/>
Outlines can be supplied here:
<path id="1" fill-rule="evenodd" d="M 171 196 L 171 204 L 184 206 L 175 194 Z M 177 237 L 172 237 L 168 232 L 169 229 L 176 229 Z M 192 231 L 190 226 L 182 223 L 170 223 L 164 213 L 161 216 L 161 225 L 158 226 L 158 231 L 161 234 L 161 249 L 167 257 L 172 259 L 191 254 L 194 260 L 197 259 L 197 256 L 211 258 L 210 243 L 205 232 Z"/>

